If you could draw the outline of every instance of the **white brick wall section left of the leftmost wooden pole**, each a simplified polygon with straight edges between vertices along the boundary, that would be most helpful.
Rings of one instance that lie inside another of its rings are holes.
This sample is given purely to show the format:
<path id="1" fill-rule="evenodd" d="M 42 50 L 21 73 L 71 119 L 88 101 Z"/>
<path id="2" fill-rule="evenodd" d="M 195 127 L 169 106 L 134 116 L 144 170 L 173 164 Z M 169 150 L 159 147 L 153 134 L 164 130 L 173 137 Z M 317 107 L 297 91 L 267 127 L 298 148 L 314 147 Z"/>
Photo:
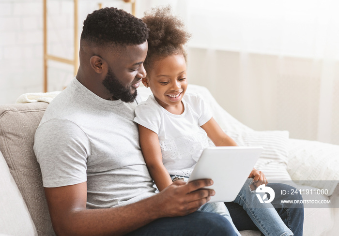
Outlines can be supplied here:
<path id="1" fill-rule="evenodd" d="M 42 1 L 0 1 L 0 104 L 42 90 Z"/>

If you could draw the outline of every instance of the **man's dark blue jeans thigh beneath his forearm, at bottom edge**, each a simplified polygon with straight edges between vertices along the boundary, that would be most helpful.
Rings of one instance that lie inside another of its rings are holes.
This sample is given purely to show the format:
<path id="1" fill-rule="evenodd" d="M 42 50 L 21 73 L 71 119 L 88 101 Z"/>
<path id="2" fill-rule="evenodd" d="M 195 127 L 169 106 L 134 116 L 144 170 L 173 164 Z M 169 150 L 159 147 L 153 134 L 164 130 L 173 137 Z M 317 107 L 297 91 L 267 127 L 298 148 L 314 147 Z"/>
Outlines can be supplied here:
<path id="1" fill-rule="evenodd" d="M 237 236 L 223 216 L 196 211 L 183 217 L 155 220 L 127 236 Z"/>

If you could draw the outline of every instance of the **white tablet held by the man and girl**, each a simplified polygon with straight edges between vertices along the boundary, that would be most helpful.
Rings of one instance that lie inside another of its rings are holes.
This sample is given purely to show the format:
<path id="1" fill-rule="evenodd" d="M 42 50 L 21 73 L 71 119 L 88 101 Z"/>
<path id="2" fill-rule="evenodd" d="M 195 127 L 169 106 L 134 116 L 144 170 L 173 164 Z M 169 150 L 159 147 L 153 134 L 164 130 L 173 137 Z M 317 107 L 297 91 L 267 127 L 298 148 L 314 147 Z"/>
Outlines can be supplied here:
<path id="1" fill-rule="evenodd" d="M 196 163 L 189 181 L 210 178 L 216 195 L 210 202 L 232 202 L 243 187 L 262 147 L 210 147 L 205 148 Z"/>

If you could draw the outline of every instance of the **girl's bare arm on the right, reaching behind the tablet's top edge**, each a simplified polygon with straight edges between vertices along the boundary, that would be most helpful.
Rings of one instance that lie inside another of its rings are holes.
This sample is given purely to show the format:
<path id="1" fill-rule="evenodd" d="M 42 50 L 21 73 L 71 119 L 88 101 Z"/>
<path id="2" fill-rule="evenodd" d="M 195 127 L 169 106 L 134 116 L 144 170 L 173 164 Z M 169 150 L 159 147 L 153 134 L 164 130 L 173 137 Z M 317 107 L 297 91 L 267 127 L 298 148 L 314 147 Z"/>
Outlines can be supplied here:
<path id="1" fill-rule="evenodd" d="M 206 131 L 207 136 L 212 140 L 216 146 L 237 146 L 234 140 L 222 131 L 216 120 L 212 117 L 201 128 Z"/>

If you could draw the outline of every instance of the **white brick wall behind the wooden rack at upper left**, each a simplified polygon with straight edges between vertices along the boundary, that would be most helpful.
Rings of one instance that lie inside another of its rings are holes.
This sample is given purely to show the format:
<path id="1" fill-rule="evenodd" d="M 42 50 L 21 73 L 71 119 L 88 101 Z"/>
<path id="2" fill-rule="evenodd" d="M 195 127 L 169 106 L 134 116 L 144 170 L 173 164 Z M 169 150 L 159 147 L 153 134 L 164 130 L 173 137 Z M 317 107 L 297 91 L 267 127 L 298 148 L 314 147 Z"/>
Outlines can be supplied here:
<path id="1" fill-rule="evenodd" d="M 103 6 L 131 11 L 122 0 L 79 0 L 78 34 L 86 15 Z M 47 0 L 48 53 L 73 59 L 73 1 Z M 48 91 L 73 78 L 73 66 L 48 62 Z M 0 104 L 15 103 L 28 92 L 43 91 L 43 0 L 0 0 Z"/>

